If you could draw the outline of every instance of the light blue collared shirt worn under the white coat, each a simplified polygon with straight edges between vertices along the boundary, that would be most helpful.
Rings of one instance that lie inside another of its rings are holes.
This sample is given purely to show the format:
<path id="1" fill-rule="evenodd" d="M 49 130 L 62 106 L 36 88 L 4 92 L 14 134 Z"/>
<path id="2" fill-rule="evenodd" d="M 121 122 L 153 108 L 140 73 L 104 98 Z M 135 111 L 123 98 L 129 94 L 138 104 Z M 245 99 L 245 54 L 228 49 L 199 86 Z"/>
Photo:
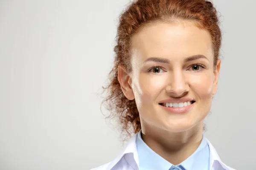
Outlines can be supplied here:
<path id="1" fill-rule="evenodd" d="M 197 150 L 176 166 L 163 159 L 145 144 L 141 138 L 141 130 L 136 137 L 136 147 L 140 170 L 209 170 L 210 152 L 204 134 Z"/>

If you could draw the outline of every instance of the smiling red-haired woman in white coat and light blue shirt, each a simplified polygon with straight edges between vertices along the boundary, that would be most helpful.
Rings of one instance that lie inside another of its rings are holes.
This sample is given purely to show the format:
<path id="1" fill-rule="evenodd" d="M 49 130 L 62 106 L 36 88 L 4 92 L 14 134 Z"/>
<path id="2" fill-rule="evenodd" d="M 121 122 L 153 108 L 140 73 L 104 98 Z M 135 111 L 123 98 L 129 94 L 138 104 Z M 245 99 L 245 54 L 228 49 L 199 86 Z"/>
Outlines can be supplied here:
<path id="1" fill-rule="evenodd" d="M 106 98 L 134 136 L 95 170 L 233 170 L 204 137 L 221 30 L 207 0 L 137 0 L 119 20 Z"/>

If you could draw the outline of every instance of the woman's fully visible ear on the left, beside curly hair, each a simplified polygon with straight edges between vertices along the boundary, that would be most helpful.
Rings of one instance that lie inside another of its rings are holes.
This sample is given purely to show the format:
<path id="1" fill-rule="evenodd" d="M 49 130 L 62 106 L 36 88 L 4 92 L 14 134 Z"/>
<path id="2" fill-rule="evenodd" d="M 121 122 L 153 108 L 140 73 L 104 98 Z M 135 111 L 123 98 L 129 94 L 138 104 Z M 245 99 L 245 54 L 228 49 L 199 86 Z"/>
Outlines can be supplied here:
<path id="1" fill-rule="evenodd" d="M 131 77 L 127 73 L 127 71 L 123 65 L 118 66 L 118 81 L 121 85 L 122 92 L 125 95 L 125 97 L 129 100 L 133 100 L 134 93 L 131 88 Z"/>

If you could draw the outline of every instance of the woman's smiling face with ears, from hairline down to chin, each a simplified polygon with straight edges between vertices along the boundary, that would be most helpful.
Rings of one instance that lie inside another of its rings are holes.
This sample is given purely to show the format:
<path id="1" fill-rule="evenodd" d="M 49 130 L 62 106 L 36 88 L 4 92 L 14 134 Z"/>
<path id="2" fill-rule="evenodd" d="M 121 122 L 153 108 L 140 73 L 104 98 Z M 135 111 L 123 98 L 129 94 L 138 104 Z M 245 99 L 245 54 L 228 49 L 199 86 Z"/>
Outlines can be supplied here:
<path id="1" fill-rule="evenodd" d="M 220 68 L 210 34 L 192 23 L 154 23 L 133 35 L 131 53 L 132 71 L 119 67 L 119 82 L 135 99 L 142 126 L 181 132 L 201 125 Z"/>

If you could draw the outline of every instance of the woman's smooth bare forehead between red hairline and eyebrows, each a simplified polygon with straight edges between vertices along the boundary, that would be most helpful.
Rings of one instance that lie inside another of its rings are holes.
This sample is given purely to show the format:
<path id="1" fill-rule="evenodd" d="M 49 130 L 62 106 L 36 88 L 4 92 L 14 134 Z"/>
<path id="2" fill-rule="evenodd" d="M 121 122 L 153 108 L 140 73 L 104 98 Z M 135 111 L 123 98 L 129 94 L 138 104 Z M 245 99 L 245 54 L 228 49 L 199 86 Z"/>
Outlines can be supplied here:
<path id="1" fill-rule="evenodd" d="M 136 58 L 149 57 L 183 59 L 202 54 L 212 58 L 212 41 L 208 31 L 191 22 L 154 23 L 145 26 L 131 38 L 131 50 Z M 134 56 L 134 55 L 133 55 Z"/>

